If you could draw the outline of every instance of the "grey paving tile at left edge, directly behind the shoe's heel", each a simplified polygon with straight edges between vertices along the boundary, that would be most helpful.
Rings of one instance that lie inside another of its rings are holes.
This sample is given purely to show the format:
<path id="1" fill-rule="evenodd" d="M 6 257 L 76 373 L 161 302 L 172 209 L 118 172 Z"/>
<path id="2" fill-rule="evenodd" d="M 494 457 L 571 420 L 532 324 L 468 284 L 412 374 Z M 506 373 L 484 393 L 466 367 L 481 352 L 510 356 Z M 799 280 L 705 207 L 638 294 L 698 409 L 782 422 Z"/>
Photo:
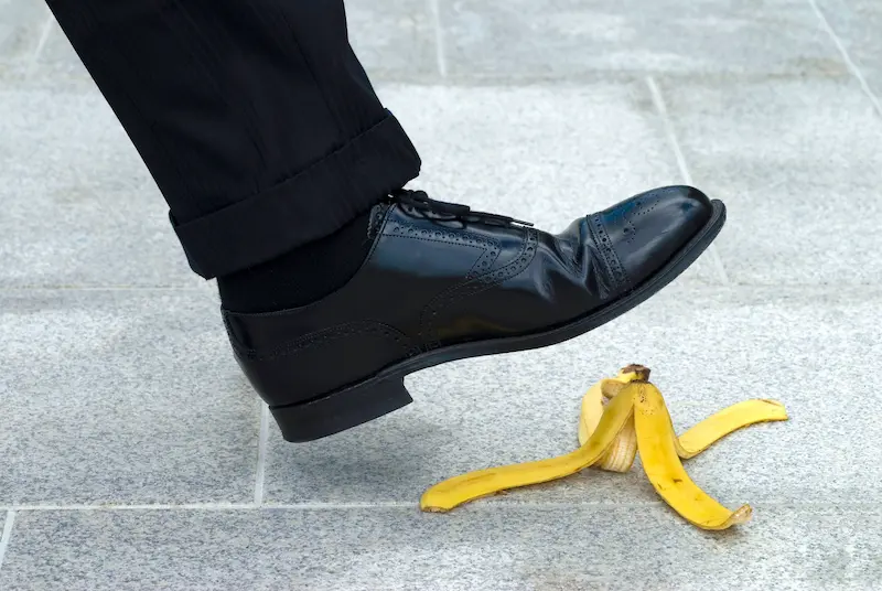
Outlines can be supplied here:
<path id="1" fill-rule="evenodd" d="M 204 292 L 0 291 L 0 506 L 251 501 L 258 406 Z"/>

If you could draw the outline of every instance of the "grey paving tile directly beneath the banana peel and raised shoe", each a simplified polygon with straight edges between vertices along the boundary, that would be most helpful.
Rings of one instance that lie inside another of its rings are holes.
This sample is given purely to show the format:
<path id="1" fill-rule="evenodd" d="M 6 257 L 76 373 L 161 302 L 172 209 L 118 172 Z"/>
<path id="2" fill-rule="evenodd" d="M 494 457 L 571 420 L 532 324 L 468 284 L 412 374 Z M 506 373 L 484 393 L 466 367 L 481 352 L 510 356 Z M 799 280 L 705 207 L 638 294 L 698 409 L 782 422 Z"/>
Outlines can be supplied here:
<path id="1" fill-rule="evenodd" d="M 682 431 L 750 398 L 782 400 L 792 420 L 735 433 L 688 462 L 724 504 L 882 499 L 875 445 L 882 402 L 854 379 L 882 354 L 882 293 L 675 286 L 589 335 L 555 347 L 458 362 L 416 374 L 415 405 L 309 444 L 269 440 L 270 503 L 416 502 L 450 476 L 576 449 L 588 386 L 628 363 L 655 369 Z M 491 503 L 647 503 L 635 466 L 588 471 Z"/>

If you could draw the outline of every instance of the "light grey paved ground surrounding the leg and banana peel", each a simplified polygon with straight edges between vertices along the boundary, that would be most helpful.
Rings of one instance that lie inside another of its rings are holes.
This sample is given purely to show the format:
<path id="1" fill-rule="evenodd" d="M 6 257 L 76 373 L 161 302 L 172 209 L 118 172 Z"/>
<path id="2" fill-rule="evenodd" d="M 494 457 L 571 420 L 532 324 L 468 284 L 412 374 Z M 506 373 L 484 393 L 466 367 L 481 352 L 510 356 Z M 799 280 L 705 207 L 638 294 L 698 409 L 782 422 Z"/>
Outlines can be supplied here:
<path id="1" fill-rule="evenodd" d="M 347 6 L 433 196 L 561 229 L 688 182 L 727 228 L 582 339 L 422 372 L 417 404 L 286 444 L 46 7 L 0 0 L 0 590 L 878 585 L 882 2 Z M 571 450 L 584 388 L 632 362 L 678 429 L 787 405 L 689 465 L 751 524 L 698 531 L 638 468 L 418 511 L 448 476 Z"/>

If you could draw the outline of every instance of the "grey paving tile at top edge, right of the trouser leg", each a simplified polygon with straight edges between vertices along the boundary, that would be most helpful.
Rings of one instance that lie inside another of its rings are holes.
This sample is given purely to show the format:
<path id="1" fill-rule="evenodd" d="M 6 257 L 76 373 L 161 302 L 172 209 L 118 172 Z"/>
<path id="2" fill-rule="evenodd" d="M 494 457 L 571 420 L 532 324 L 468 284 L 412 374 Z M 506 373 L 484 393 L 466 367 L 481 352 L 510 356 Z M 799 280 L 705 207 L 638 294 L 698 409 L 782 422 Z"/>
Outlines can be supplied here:
<path id="1" fill-rule="evenodd" d="M 803 0 L 441 2 L 454 76 L 567 78 L 591 72 L 846 75 Z"/>

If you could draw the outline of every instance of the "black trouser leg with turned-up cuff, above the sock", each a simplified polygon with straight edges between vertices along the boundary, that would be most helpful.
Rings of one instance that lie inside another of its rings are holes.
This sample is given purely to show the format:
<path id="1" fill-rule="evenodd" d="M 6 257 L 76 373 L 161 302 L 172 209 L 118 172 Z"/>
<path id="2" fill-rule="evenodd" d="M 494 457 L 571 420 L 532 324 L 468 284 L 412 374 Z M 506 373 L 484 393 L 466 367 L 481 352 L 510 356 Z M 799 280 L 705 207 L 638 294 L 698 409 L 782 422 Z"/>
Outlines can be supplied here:
<path id="1" fill-rule="evenodd" d="M 205 278 L 332 234 L 420 159 L 343 0 L 46 0 Z"/>

